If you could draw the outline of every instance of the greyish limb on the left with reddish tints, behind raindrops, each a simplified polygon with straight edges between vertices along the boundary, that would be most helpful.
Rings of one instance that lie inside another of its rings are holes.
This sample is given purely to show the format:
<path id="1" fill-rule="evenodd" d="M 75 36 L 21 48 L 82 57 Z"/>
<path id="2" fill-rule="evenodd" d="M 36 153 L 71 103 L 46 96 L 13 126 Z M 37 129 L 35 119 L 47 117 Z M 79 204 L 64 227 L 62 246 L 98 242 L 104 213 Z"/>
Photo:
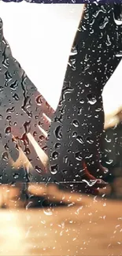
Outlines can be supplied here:
<path id="1" fill-rule="evenodd" d="M 43 148 L 43 154 L 46 151 L 45 133 L 50 124 L 46 117 L 53 114 L 54 110 L 13 58 L 0 19 L 0 183 L 27 182 L 27 173 L 21 168 L 24 162 L 17 168 L 15 164 L 20 157 L 19 146 L 33 166 L 31 178 L 40 181 L 46 171 L 46 164 L 39 158 L 40 150 Z M 39 145 L 38 152 L 30 138 Z"/>

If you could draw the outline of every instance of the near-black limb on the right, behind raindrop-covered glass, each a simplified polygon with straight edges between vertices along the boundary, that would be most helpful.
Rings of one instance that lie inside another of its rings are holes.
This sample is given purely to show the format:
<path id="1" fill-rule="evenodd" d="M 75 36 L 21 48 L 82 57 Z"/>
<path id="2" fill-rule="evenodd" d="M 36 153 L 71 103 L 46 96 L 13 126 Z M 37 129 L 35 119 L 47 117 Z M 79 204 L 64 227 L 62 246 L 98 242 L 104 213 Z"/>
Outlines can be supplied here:
<path id="1" fill-rule="evenodd" d="M 113 6 L 87 5 L 47 143 L 50 173 L 57 182 L 82 181 L 85 166 L 91 175 L 104 177 L 99 150 L 104 125 L 102 90 L 121 60 L 116 56 L 122 48 L 120 32 Z"/>

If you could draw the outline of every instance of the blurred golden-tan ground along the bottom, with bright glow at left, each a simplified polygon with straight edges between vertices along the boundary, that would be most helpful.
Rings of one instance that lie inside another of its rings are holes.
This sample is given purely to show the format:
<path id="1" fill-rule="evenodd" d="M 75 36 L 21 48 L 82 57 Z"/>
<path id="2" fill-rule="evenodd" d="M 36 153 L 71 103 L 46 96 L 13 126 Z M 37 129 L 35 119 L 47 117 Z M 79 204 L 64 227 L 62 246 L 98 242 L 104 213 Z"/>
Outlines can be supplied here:
<path id="1" fill-rule="evenodd" d="M 32 190 L 37 195 L 41 188 L 31 185 Z M 50 204 L 42 187 L 39 207 L 31 198 L 24 208 L 19 190 L 2 186 L 2 191 L 7 209 L 0 210 L 0 255 L 122 255 L 120 200 L 57 193 L 54 188 L 56 203 Z"/>

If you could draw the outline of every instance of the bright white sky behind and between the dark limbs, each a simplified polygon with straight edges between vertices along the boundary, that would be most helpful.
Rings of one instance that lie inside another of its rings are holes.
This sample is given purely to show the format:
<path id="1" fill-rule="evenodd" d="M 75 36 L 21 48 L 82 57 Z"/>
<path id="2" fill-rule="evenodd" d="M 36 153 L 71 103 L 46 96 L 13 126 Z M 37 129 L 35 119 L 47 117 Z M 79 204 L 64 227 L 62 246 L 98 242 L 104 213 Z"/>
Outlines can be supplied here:
<path id="1" fill-rule="evenodd" d="M 54 109 L 83 5 L 0 1 L 3 30 L 14 58 Z M 105 113 L 122 105 L 122 61 L 103 92 Z"/>

